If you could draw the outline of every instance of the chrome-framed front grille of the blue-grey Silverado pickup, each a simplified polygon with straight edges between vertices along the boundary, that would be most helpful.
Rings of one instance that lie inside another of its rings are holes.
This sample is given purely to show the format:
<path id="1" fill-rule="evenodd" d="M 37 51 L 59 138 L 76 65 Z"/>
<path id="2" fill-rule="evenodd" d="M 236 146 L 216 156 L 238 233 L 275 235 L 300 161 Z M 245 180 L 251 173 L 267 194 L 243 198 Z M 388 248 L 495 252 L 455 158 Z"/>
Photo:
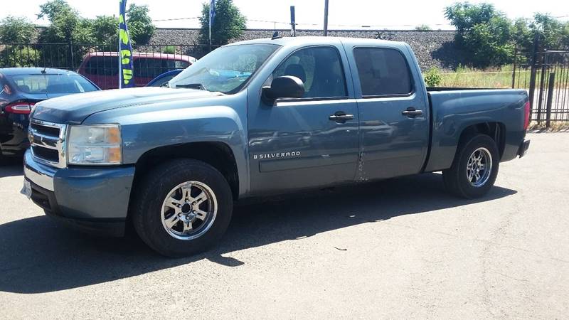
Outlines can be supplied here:
<path id="1" fill-rule="evenodd" d="M 67 165 L 65 160 L 65 124 L 55 124 L 31 119 L 30 142 L 33 157 L 58 168 Z"/>

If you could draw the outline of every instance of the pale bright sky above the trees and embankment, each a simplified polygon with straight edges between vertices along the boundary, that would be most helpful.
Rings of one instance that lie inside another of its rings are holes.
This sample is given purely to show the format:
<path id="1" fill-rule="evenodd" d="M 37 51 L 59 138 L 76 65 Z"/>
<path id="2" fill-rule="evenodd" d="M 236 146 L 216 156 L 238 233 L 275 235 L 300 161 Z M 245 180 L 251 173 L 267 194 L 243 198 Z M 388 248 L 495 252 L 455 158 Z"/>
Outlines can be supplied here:
<path id="1" fill-rule="evenodd" d="M 33 23 L 47 25 L 38 20 L 39 5 L 46 0 L 6 1 L 0 18 L 25 16 Z M 128 0 L 127 4 L 149 6 L 154 24 L 161 28 L 198 28 L 196 17 L 201 14 L 204 0 Z M 329 0 L 329 29 L 413 29 L 427 25 L 432 29 L 450 30 L 442 13 L 454 0 L 381 1 L 381 0 Z M 471 0 L 471 3 L 483 1 Z M 486 0 L 503 11 L 509 18 L 531 18 L 534 12 L 549 13 L 569 21 L 566 0 Z M 68 0 L 86 18 L 118 15 L 117 0 Z M 295 6 L 297 29 L 321 29 L 324 21 L 324 0 L 234 0 L 248 18 L 248 28 L 289 28 L 290 6 Z M 186 19 L 188 18 L 188 19 Z"/>

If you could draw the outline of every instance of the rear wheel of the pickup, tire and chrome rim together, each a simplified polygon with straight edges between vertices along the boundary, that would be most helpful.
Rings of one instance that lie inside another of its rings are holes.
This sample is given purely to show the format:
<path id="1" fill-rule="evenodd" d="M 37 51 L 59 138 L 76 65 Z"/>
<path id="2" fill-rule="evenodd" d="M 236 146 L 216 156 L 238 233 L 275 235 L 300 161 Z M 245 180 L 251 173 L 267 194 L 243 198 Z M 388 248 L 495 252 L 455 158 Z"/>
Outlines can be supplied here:
<path id="1" fill-rule="evenodd" d="M 494 139 L 477 134 L 459 144 L 452 166 L 442 171 L 442 178 L 450 193 L 462 198 L 479 198 L 494 186 L 499 165 Z"/>

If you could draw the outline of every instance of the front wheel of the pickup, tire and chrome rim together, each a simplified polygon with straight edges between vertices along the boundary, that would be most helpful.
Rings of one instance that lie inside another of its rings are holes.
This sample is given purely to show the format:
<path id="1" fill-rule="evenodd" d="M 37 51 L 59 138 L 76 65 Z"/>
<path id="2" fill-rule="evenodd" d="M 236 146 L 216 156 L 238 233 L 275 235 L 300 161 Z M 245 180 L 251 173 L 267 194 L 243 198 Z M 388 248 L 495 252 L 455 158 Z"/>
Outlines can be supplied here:
<path id="1" fill-rule="evenodd" d="M 218 242 L 233 210 L 225 177 L 191 159 L 156 168 L 136 189 L 133 200 L 131 214 L 138 235 L 169 257 L 193 255 Z"/>

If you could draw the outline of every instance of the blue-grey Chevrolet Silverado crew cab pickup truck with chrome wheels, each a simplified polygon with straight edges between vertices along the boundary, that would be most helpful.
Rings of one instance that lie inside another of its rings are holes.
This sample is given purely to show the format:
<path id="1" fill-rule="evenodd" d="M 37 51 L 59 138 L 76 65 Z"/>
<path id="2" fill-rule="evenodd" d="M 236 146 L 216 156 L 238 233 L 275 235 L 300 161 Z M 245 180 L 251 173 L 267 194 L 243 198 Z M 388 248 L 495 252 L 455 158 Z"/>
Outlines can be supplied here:
<path id="1" fill-rule="evenodd" d="M 223 46 L 168 87 L 88 92 L 31 113 L 22 192 L 87 231 L 168 256 L 218 241 L 234 201 L 442 171 L 484 196 L 529 142 L 525 90 L 427 89 L 406 43 Z"/>

